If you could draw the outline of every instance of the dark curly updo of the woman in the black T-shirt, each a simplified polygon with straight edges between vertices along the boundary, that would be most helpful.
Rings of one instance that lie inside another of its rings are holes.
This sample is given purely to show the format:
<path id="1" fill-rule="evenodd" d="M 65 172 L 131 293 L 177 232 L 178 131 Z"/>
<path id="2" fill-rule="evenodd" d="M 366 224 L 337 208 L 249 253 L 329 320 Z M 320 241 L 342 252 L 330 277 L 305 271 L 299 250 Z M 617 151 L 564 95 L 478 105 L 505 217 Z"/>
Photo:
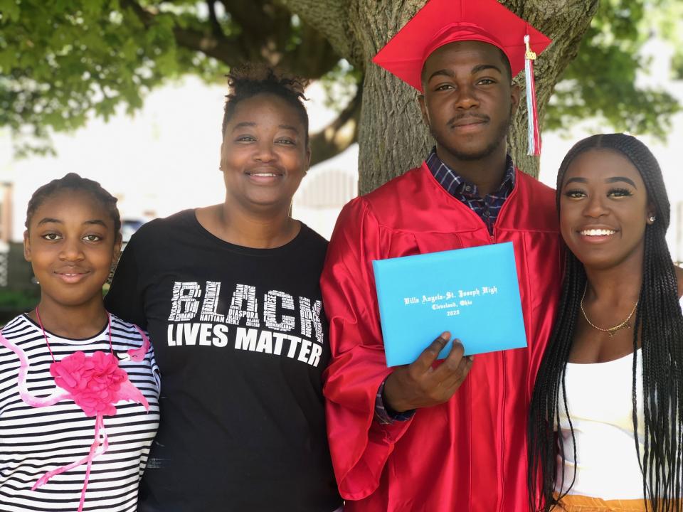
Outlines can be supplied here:
<path id="1" fill-rule="evenodd" d="M 223 112 L 223 138 L 226 137 L 226 127 L 240 101 L 259 94 L 272 94 L 285 100 L 297 111 L 304 125 L 305 141 L 308 146 L 308 112 L 302 103 L 302 100 L 307 100 L 304 95 L 307 85 L 307 79 L 278 73 L 265 64 L 247 63 L 232 68 L 228 73 L 230 92 L 226 96 L 226 107 Z"/>

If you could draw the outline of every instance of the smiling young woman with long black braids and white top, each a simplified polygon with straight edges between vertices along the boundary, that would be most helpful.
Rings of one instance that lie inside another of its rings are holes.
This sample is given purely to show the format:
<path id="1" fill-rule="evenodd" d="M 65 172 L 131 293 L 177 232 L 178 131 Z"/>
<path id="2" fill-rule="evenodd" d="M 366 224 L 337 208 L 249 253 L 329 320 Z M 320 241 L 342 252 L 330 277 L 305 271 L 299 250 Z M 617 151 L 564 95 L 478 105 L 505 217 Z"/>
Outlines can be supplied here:
<path id="1" fill-rule="evenodd" d="M 534 511 L 683 507 L 683 271 L 642 142 L 578 142 L 557 178 L 561 303 L 529 412 Z"/>

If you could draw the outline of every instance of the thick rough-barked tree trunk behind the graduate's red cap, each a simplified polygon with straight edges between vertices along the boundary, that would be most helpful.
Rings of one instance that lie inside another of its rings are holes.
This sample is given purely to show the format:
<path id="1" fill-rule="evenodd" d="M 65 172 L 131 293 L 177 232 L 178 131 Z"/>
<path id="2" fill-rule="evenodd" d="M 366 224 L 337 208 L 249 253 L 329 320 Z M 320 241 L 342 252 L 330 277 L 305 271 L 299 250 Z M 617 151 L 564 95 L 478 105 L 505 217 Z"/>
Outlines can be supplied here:
<path id="1" fill-rule="evenodd" d="M 359 126 L 360 193 L 369 192 L 420 164 L 433 141 L 420 116 L 418 93 L 372 64 L 371 58 L 425 0 L 282 1 L 324 33 L 340 55 L 365 72 Z M 542 127 L 544 110 L 554 86 L 576 57 L 581 38 L 598 8 L 598 0 L 503 0 L 501 3 L 554 41 L 534 66 Z M 329 9 L 321 9 L 324 4 L 329 4 Z M 321 13 L 334 13 L 334 16 Z M 538 159 L 526 155 L 524 73 L 516 81 L 523 93 L 508 137 L 509 151 L 520 169 L 538 176 Z"/>

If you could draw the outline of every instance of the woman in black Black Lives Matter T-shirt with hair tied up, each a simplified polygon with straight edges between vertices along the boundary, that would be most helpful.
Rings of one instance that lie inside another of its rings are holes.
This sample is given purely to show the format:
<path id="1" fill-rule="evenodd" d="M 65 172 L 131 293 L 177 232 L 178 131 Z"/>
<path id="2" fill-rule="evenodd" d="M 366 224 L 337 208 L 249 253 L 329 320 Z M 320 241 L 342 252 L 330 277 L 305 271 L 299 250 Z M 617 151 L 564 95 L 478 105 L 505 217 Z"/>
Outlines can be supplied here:
<path id="1" fill-rule="evenodd" d="M 226 200 L 132 237 L 107 308 L 149 331 L 162 422 L 140 512 L 341 507 L 327 449 L 327 242 L 290 217 L 311 151 L 302 80 L 229 75 Z"/>

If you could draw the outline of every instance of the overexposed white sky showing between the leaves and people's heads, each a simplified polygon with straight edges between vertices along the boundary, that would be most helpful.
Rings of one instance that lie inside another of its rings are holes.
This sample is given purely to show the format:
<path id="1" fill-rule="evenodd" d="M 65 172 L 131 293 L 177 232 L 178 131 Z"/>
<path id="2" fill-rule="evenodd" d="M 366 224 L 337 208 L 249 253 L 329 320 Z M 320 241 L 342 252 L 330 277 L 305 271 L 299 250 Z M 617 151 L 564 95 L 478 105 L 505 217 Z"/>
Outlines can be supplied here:
<path id="1" fill-rule="evenodd" d="M 671 49 L 656 41 L 645 47 L 652 55 L 649 75 L 638 78 L 642 84 L 665 87 L 683 103 L 683 82 L 664 80 L 669 76 Z M 105 123 L 92 119 L 72 134 L 55 134 L 57 156 L 33 156 L 15 160 L 9 132 L 0 129 L 0 181 L 14 183 L 13 239 L 21 240 L 26 204 L 31 193 L 53 178 L 68 172 L 100 181 L 119 198 L 124 218 L 149 219 L 170 215 L 185 208 L 208 206 L 223 201 L 224 188 L 218 170 L 221 145 L 221 119 L 226 87 L 206 85 L 186 77 L 150 93 L 141 111 L 124 113 Z M 307 108 L 314 132 L 334 118 L 324 107 L 322 87 L 312 85 Z M 543 134 L 541 174 L 544 183 L 554 187 L 556 171 L 569 148 L 591 134 L 595 122 L 575 127 L 569 137 Z M 603 131 L 609 131 L 608 128 Z M 680 142 L 683 141 L 683 113 L 674 118 L 667 142 L 641 137 L 660 162 L 672 202 L 672 228 L 667 240 L 674 260 L 683 260 L 683 178 L 680 172 Z M 302 196 L 312 176 L 341 171 L 357 179 L 358 148 L 351 146 L 334 159 L 309 171 L 297 196 Z M 340 204 L 323 210 L 307 208 L 295 196 L 294 216 L 329 238 Z"/>

